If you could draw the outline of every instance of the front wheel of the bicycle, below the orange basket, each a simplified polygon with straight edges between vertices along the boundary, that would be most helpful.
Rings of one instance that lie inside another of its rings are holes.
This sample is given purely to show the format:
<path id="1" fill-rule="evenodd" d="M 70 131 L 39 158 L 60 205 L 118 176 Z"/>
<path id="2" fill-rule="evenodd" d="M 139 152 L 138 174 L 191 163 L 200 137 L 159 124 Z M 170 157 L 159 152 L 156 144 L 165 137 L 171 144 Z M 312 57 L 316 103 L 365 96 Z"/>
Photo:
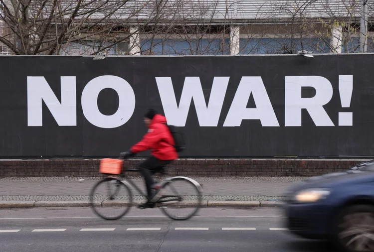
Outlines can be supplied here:
<path id="1" fill-rule="evenodd" d="M 117 220 L 132 206 L 128 186 L 116 178 L 104 178 L 94 185 L 90 193 L 93 212 L 105 220 Z"/>

